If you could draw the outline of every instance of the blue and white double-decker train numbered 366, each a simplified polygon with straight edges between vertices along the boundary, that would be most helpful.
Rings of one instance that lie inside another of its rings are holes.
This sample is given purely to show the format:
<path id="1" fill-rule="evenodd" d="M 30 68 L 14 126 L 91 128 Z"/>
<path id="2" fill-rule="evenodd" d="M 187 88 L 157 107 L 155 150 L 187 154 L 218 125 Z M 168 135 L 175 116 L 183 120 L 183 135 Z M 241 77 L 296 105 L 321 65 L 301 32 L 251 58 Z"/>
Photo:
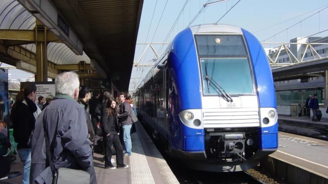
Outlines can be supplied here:
<path id="1" fill-rule="evenodd" d="M 133 96 L 166 152 L 192 169 L 247 170 L 277 150 L 271 68 L 260 42 L 243 28 L 184 29 Z"/>

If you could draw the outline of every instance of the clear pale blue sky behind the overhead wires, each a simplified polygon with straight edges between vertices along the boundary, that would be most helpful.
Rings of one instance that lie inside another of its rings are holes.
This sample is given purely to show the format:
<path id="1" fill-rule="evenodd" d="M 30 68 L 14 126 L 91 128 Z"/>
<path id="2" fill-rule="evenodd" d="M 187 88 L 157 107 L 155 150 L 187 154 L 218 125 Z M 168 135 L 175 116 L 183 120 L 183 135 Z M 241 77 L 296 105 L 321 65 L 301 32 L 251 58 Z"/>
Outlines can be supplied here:
<path id="1" fill-rule="evenodd" d="M 190 22 L 190 19 L 194 18 L 195 14 L 199 11 L 199 9 L 201 9 L 206 1 L 207 0 L 188 1 L 183 14 L 180 16 L 178 23 L 174 27 L 174 31 L 167 40 L 168 42 L 170 42 L 178 32 L 186 28 L 187 24 Z M 209 6 L 205 11 L 205 17 L 204 13 L 202 13 L 192 25 L 216 22 L 237 1 L 238 0 L 230 0 Z M 150 23 L 156 0 L 144 0 L 137 42 L 146 42 L 146 36 L 149 28 L 150 31 L 147 42 L 151 42 L 153 36 L 153 42 L 163 42 L 185 2 L 185 0 L 168 0 L 162 19 L 154 36 L 155 29 L 158 25 L 166 0 L 157 0 L 151 27 Z M 328 5 L 328 1 L 326 0 L 241 0 L 219 23 L 236 25 L 245 28 L 250 32 L 255 32 L 325 5 Z M 318 10 L 279 24 L 273 28 L 257 32 L 255 33 L 255 36 L 260 41 L 263 41 L 266 38 L 284 30 L 285 28 L 296 24 L 302 19 L 318 12 Z M 287 31 L 284 31 L 274 38 L 267 40 L 266 42 L 289 42 L 290 39 L 295 37 L 305 37 L 319 32 L 319 25 L 320 31 L 328 29 L 328 25 L 326 24 L 327 17 L 328 8 L 320 12 L 320 24 L 319 15 L 316 14 L 311 18 L 303 21 L 301 24 L 302 26 L 297 24 L 293 28 L 289 28 L 288 34 Z M 315 36 L 328 36 L 328 31 Z M 156 50 L 158 50 L 160 46 L 155 45 L 154 47 Z M 134 57 L 135 62 L 138 61 L 139 57 L 141 56 L 143 48 L 143 45 L 136 46 Z M 146 53 L 141 59 L 140 64 L 150 64 L 151 62 L 149 61 L 152 60 L 155 56 L 151 49 L 149 49 L 147 57 L 145 57 Z M 149 68 L 144 68 L 143 72 L 139 69 L 137 71 L 136 68 L 133 68 L 131 75 L 132 78 L 143 78 L 149 71 Z M 13 78 L 27 78 L 32 75 L 30 73 L 19 70 L 10 70 L 9 73 L 11 73 Z M 136 84 L 138 84 L 140 81 L 141 80 L 138 79 L 131 80 L 131 82 L 135 82 Z M 133 85 L 131 82 L 130 87 Z"/>

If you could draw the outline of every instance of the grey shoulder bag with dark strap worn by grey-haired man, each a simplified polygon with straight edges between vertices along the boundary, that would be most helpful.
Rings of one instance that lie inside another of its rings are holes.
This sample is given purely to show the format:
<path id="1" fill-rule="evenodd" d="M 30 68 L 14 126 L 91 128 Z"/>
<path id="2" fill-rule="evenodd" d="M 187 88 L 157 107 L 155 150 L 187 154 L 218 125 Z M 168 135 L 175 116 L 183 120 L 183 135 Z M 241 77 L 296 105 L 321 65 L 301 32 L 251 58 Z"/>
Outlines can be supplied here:
<path id="1" fill-rule="evenodd" d="M 46 121 L 43 117 L 43 130 L 44 130 L 44 137 L 46 139 L 46 152 L 49 161 L 49 166 L 52 172 L 52 184 L 89 184 L 90 183 L 90 174 L 75 169 L 68 169 L 68 168 L 59 168 L 56 172 L 55 167 L 52 162 L 52 155 L 50 152 L 50 145 L 49 145 L 49 135 L 48 131 L 46 130 Z"/>

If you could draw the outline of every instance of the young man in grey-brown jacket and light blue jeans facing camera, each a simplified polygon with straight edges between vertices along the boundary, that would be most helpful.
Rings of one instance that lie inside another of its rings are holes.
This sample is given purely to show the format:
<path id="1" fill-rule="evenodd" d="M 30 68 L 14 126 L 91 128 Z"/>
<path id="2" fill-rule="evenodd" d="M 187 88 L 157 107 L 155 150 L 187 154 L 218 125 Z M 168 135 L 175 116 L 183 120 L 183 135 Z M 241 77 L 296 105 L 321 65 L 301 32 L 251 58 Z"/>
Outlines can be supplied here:
<path id="1" fill-rule="evenodd" d="M 125 145 L 125 154 L 124 156 L 130 156 L 132 154 L 132 141 L 131 141 L 131 128 L 132 128 L 132 120 L 130 117 L 130 113 L 132 107 L 129 104 L 129 100 L 125 99 L 126 95 L 124 93 L 119 94 L 120 110 L 119 115 L 117 116 L 119 122 L 121 123 L 122 131 L 123 131 L 123 141 Z"/>

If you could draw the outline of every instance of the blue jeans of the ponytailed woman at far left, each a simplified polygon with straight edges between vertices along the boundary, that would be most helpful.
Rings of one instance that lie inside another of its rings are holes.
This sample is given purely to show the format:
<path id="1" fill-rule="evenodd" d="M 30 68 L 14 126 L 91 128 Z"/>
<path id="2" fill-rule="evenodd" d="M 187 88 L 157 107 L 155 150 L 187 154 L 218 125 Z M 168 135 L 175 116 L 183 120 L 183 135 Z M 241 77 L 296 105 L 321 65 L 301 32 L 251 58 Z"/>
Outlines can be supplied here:
<path id="1" fill-rule="evenodd" d="M 30 168 L 31 168 L 31 149 L 19 149 L 18 155 L 23 162 L 23 184 L 30 183 Z"/>

